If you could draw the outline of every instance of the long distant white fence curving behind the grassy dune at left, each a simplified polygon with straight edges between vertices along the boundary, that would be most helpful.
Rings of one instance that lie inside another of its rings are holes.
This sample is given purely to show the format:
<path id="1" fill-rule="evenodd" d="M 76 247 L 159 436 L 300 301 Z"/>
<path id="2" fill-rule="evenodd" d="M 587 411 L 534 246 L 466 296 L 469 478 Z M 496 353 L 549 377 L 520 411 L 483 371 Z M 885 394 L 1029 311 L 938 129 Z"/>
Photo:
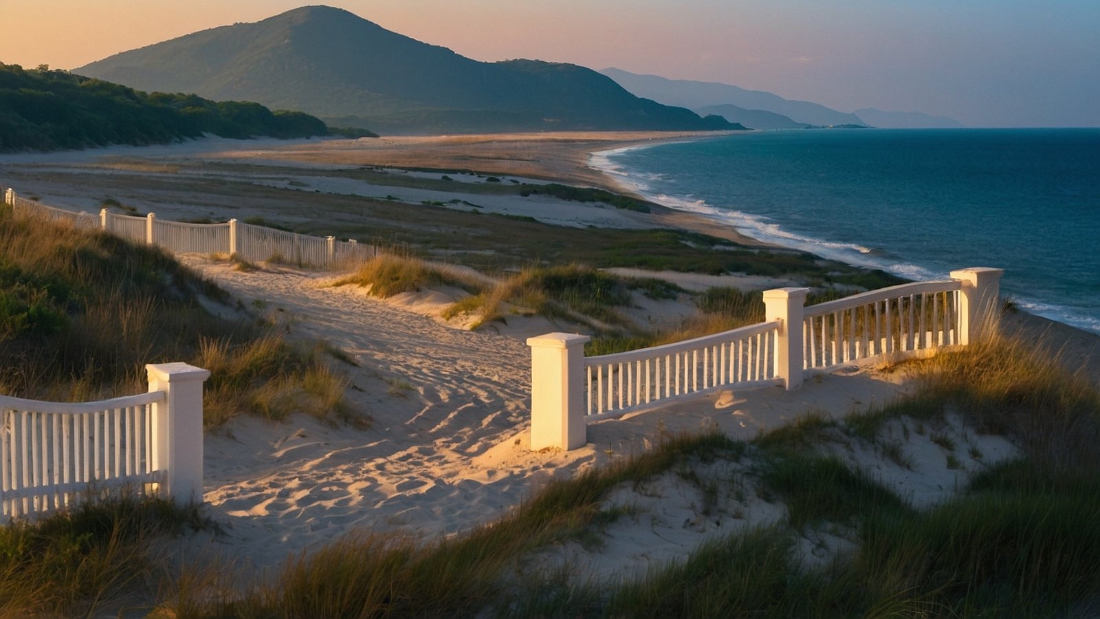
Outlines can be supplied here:
<path id="1" fill-rule="evenodd" d="M 230 219 L 224 224 L 162 221 L 150 213 L 145 217 L 119 215 L 102 209 L 99 216 L 74 213 L 4 192 L 4 203 L 16 216 L 46 217 L 88 229 L 101 229 L 138 243 L 156 245 L 176 253 L 227 253 L 253 261 L 277 261 L 301 267 L 328 268 L 352 260 L 373 258 L 377 249 L 353 239 L 310 237 Z"/>

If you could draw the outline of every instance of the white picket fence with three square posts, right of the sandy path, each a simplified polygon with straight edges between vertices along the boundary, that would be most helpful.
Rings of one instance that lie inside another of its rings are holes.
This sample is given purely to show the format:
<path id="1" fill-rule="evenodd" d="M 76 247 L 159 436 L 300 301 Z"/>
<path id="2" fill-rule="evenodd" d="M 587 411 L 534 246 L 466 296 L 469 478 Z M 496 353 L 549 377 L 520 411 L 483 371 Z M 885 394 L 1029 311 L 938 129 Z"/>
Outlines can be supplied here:
<path id="1" fill-rule="evenodd" d="M 763 323 L 598 357 L 584 357 L 587 336 L 532 337 L 531 448 L 573 449 L 591 422 L 723 387 L 795 389 L 805 372 L 966 345 L 991 324 L 1001 273 L 965 269 L 810 307 L 807 289 L 769 290 Z"/>

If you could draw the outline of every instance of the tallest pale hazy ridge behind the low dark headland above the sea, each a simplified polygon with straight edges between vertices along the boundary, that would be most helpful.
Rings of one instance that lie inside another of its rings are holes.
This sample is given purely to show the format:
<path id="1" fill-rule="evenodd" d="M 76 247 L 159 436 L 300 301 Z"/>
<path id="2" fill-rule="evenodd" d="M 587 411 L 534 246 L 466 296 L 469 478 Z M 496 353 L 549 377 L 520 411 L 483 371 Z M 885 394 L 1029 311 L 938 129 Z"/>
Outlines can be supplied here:
<path id="1" fill-rule="evenodd" d="M 732 104 L 750 110 L 767 110 L 783 115 L 795 122 L 828 127 L 833 124 L 867 124 L 854 113 L 844 113 L 810 101 L 792 101 L 763 90 L 746 90 L 717 82 L 668 79 L 657 75 L 638 75 L 618 68 L 600 73 L 639 97 L 670 106 L 697 109 Z"/>

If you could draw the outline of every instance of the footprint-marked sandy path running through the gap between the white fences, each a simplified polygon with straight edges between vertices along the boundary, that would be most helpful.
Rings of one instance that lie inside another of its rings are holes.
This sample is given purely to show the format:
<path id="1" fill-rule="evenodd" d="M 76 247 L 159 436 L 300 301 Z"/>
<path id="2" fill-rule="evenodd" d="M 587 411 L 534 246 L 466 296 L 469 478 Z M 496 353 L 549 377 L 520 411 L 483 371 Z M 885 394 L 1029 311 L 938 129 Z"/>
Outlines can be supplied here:
<path id="1" fill-rule="evenodd" d="M 349 400 L 374 420 L 361 431 L 300 415 L 276 427 L 242 417 L 210 436 L 205 498 L 232 525 L 223 543 L 271 565 L 354 528 L 454 532 L 526 492 L 529 471 L 474 464 L 528 423 L 530 354 L 520 340 L 450 328 L 350 286 L 319 289 L 316 275 L 191 264 L 244 303 L 265 302 L 295 334 L 355 357 Z"/>

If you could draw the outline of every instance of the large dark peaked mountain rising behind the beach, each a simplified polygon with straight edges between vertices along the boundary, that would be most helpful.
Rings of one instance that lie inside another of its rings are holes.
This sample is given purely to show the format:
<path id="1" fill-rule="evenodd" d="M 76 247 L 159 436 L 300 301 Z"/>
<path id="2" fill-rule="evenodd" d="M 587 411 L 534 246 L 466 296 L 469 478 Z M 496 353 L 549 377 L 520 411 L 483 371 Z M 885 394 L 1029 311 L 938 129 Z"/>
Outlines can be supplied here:
<path id="1" fill-rule="evenodd" d="M 383 132 L 737 129 L 571 64 L 483 63 L 331 7 L 302 7 L 116 54 L 76 73 L 248 99 Z"/>

